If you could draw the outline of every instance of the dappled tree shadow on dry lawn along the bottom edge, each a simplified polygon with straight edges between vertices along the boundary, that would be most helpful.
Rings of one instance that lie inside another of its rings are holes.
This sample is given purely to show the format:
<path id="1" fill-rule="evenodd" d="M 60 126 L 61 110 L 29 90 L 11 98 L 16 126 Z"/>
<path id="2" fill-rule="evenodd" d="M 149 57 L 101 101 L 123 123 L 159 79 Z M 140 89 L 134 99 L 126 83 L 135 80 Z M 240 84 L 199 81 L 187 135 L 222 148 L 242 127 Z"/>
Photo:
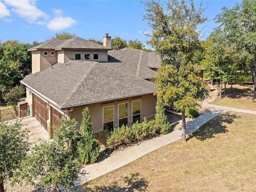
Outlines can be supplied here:
<path id="1" fill-rule="evenodd" d="M 148 182 L 146 182 L 143 178 L 140 178 L 138 173 L 130 174 L 130 176 L 125 176 L 123 178 L 119 178 L 124 181 L 123 186 L 118 186 L 115 182 L 108 186 L 94 186 L 93 188 L 87 187 L 86 184 L 82 186 L 83 190 L 86 192 L 124 192 L 124 191 L 146 191 L 148 187 Z"/>

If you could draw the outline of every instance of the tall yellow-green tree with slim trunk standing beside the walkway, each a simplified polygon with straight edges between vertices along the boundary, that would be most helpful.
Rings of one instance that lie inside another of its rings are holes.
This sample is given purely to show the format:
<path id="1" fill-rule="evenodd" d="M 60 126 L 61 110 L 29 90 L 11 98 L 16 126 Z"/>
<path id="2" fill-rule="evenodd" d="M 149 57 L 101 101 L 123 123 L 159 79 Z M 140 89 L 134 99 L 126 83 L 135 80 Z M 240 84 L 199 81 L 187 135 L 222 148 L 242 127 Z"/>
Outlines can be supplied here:
<path id="1" fill-rule="evenodd" d="M 194 52 L 201 47 L 197 26 L 206 21 L 202 16 L 206 8 L 201 4 L 196 9 L 193 1 L 161 2 L 142 2 L 144 20 L 152 28 L 148 43 L 162 60 L 155 79 L 156 95 L 182 112 L 182 141 L 186 142 L 185 109 L 208 95 L 208 87 L 198 76 L 202 68 L 194 61 Z"/>

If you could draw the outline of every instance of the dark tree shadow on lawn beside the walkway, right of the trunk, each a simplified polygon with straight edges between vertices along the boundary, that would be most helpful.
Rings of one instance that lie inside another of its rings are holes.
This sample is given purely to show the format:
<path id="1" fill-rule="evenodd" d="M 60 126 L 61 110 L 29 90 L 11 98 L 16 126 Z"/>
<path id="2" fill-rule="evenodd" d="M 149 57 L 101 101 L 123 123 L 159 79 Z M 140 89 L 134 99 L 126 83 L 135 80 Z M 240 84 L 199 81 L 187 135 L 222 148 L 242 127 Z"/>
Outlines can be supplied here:
<path id="1" fill-rule="evenodd" d="M 226 129 L 227 126 L 225 124 L 231 124 L 236 117 L 235 114 L 230 114 L 228 112 L 221 114 L 202 125 L 194 133 L 190 134 L 187 140 L 195 137 L 198 140 L 204 141 L 208 138 L 214 138 L 216 134 L 226 133 L 228 130 Z"/>

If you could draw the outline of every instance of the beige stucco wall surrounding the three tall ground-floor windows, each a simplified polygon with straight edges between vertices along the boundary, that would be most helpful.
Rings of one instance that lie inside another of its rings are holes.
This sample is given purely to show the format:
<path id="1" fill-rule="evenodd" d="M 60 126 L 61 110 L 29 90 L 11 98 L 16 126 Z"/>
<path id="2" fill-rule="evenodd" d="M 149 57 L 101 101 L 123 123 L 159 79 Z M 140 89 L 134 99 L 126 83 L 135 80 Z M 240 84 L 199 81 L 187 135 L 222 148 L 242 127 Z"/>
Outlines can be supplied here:
<path id="1" fill-rule="evenodd" d="M 118 127 L 118 104 L 128 103 L 128 124 L 132 125 L 132 102 L 138 101 L 141 102 L 140 110 L 140 120 L 144 118 L 152 119 L 156 114 L 156 96 L 153 94 L 147 94 L 139 97 L 125 98 L 116 101 L 109 101 L 104 103 L 90 104 L 87 107 L 90 110 L 90 118 L 92 120 L 92 129 L 96 138 L 102 143 L 105 144 L 104 138 L 104 129 L 103 129 L 103 107 L 114 106 L 114 127 Z M 75 118 L 78 123 L 82 122 L 82 111 L 85 106 L 74 108 L 71 112 L 70 118 Z"/>

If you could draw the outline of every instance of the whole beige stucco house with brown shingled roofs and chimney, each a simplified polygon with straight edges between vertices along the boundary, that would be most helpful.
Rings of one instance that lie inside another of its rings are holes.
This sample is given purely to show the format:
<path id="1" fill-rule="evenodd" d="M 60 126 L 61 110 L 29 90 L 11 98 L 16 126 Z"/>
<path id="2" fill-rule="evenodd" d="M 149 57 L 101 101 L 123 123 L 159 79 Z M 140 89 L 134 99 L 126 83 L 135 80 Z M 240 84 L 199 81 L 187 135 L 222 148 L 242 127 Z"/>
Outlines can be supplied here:
<path id="1" fill-rule="evenodd" d="M 30 48 L 32 73 L 21 80 L 32 116 L 53 136 L 52 125 L 62 117 L 82 122 L 90 110 L 92 129 L 100 142 L 114 128 L 153 118 L 156 110 L 156 74 L 160 58 L 153 52 L 111 49 L 75 37 L 50 40 Z"/>

